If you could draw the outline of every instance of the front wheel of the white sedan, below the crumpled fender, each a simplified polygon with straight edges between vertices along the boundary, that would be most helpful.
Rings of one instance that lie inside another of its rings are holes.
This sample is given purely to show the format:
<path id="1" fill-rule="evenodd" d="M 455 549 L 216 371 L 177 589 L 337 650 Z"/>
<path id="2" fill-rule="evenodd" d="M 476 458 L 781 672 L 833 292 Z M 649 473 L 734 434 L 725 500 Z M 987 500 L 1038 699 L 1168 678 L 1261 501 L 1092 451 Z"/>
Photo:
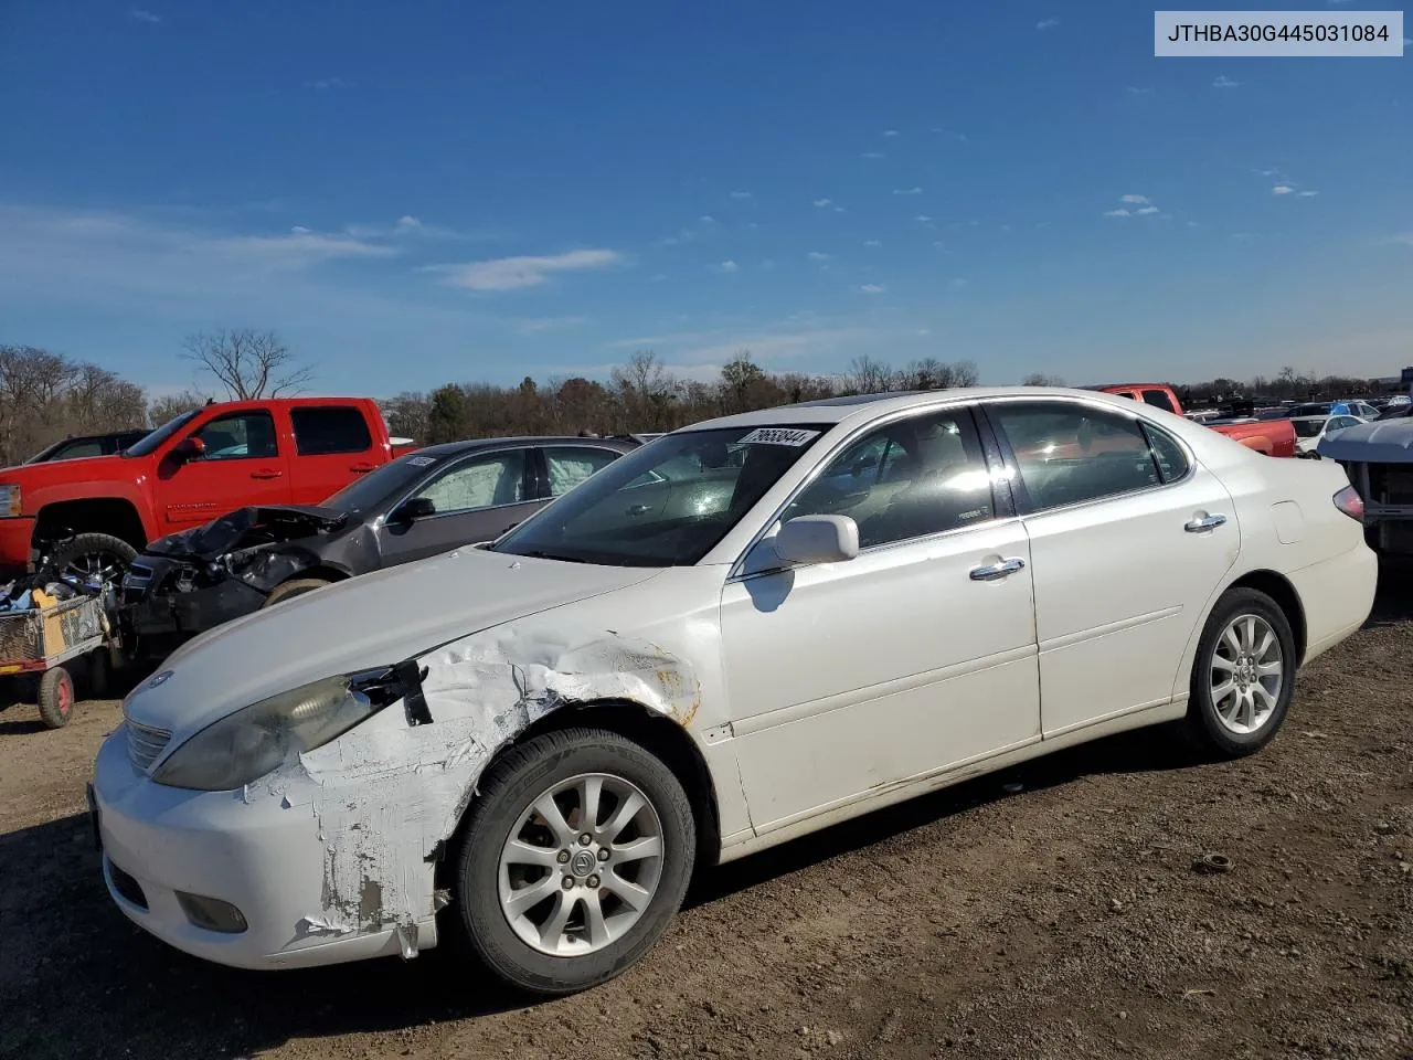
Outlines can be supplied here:
<path id="1" fill-rule="evenodd" d="M 482 962 L 557 996 L 642 960 L 681 906 L 697 849 L 673 772 L 617 734 L 565 729 L 512 749 L 478 787 L 456 888 Z"/>

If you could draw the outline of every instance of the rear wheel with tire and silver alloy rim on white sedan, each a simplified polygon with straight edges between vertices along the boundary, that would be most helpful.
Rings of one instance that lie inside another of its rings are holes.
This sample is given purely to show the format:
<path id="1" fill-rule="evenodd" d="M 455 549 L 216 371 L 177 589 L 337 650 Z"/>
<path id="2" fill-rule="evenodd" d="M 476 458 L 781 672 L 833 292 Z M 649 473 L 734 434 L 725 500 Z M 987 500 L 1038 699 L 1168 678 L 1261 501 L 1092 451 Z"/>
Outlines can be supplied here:
<path id="1" fill-rule="evenodd" d="M 1198 643 L 1188 732 L 1224 758 L 1259 750 L 1284 722 L 1294 684 L 1296 642 L 1284 612 L 1263 592 L 1231 589 Z"/>

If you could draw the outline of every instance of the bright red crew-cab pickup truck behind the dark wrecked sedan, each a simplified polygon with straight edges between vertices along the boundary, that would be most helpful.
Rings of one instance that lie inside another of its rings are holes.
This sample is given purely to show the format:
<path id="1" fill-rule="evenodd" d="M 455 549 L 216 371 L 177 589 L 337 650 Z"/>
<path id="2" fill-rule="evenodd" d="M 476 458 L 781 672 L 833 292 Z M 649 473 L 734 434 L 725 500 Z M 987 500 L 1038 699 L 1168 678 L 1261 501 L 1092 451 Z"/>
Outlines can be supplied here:
<path id="1" fill-rule="evenodd" d="M 148 541 L 237 507 L 318 503 L 387 464 L 401 441 L 367 397 L 225 401 L 116 457 L 6 468 L 0 571 L 23 571 L 62 541 L 72 572 L 106 578 Z"/>

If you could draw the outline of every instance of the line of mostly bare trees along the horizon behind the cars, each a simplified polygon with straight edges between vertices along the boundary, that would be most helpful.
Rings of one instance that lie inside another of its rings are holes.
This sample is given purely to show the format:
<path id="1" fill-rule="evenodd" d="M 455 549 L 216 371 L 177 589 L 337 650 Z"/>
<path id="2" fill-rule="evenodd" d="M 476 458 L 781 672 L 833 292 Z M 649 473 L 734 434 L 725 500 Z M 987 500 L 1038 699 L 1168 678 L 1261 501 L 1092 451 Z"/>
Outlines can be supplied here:
<path id="1" fill-rule="evenodd" d="M 189 390 L 150 396 L 99 365 L 35 346 L 0 345 L 0 466 L 18 464 L 45 445 L 76 434 L 155 427 L 209 399 L 260 399 L 301 393 L 312 367 L 273 331 L 229 329 L 189 336 L 179 355 L 199 377 Z M 976 365 L 935 358 L 893 367 L 856 358 L 839 375 L 767 372 L 740 351 L 716 379 L 681 379 L 653 352 L 615 367 L 606 380 L 584 376 L 517 386 L 445 383 L 382 400 L 394 435 L 421 444 L 534 434 L 630 434 L 670 431 L 715 416 L 845 394 L 941 390 L 975 386 Z M 1031 373 L 1024 386 L 1065 386 L 1060 376 Z M 1275 377 L 1212 379 L 1174 387 L 1187 407 L 1225 397 L 1358 397 L 1378 380 L 1282 369 Z"/>

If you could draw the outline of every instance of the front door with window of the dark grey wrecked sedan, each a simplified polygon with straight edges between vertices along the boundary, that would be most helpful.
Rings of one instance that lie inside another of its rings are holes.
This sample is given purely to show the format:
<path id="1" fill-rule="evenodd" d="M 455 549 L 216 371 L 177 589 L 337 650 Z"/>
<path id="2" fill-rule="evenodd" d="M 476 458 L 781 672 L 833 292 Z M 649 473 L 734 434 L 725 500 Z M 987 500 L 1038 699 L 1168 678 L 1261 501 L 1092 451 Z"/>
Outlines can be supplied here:
<path id="1" fill-rule="evenodd" d="M 544 506 L 534 493 L 534 464 L 524 447 L 473 452 L 451 461 L 398 502 L 424 497 L 435 505 L 434 514 L 408 523 L 393 519 L 394 509 L 379 526 L 383 565 L 499 537 Z"/>

